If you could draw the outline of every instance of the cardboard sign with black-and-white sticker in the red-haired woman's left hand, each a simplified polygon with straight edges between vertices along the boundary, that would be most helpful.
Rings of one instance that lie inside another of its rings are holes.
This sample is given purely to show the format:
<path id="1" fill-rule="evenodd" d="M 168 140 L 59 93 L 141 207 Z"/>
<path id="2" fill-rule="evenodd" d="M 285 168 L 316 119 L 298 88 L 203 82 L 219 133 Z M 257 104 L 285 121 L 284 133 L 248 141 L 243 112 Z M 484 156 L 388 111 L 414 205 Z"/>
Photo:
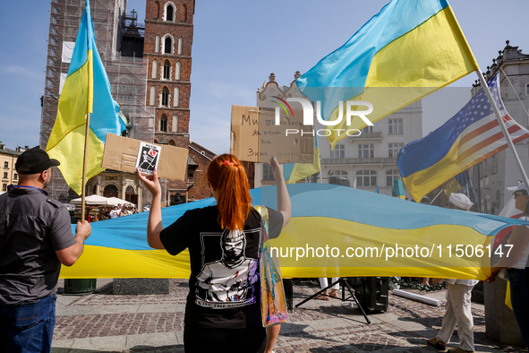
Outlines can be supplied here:
<path id="1" fill-rule="evenodd" d="M 140 168 L 143 174 L 152 174 L 156 168 L 158 177 L 185 180 L 188 150 L 181 147 L 159 145 L 129 139 L 107 133 L 101 167 L 129 173 Z"/>

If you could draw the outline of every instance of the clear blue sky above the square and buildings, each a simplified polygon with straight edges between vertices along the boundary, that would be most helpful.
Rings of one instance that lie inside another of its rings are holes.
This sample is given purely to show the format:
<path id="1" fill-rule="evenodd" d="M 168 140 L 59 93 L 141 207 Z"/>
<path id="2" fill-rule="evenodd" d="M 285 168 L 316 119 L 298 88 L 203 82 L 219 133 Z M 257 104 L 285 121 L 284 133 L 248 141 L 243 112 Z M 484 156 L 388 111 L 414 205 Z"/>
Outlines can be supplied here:
<path id="1" fill-rule="evenodd" d="M 280 85 L 290 84 L 295 71 L 308 71 L 387 3 L 197 0 L 192 46 L 192 140 L 217 153 L 228 151 L 232 104 L 255 105 L 255 92 L 264 81 L 268 82 L 269 73 L 276 74 Z M 492 64 L 507 39 L 511 46 L 529 54 L 529 1 L 452 0 L 450 4 L 482 70 Z M 145 1 L 130 0 L 128 8 L 135 8 L 140 19 L 145 17 Z M 7 148 L 38 144 L 49 9 L 47 0 L 2 4 L 0 141 Z M 476 78 L 471 73 L 453 86 L 470 87 Z M 456 91 L 456 97 L 450 99 L 441 92 L 423 100 L 424 133 L 442 125 L 470 98 Z"/>

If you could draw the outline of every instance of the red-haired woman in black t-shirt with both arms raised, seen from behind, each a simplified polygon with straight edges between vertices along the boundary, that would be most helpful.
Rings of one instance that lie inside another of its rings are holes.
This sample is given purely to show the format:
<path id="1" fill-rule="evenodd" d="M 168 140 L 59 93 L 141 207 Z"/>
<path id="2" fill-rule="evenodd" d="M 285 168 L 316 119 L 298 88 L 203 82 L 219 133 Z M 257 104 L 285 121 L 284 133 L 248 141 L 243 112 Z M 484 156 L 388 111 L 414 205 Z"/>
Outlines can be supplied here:
<path id="1" fill-rule="evenodd" d="M 269 209 L 269 237 L 278 237 L 290 220 L 290 197 L 283 167 L 269 161 L 277 181 L 277 209 Z M 260 213 L 252 207 L 241 162 L 223 154 L 209 163 L 208 183 L 217 205 L 186 211 L 162 225 L 161 187 L 156 172 L 144 177 L 152 194 L 149 246 L 179 254 L 189 249 L 190 292 L 185 308 L 183 344 L 192 352 L 263 352 L 266 331 L 260 319 Z M 271 348 L 267 348 L 271 349 Z"/>

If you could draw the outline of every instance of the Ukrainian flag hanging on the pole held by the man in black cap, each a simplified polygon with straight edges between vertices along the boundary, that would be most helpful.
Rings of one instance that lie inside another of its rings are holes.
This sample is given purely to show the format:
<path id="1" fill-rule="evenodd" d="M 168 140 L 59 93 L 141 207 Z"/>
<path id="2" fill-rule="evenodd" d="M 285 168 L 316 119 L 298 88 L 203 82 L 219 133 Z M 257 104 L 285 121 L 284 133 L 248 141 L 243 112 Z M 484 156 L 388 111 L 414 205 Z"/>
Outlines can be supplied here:
<path id="1" fill-rule="evenodd" d="M 103 171 L 101 162 L 107 133 L 121 134 L 125 124 L 110 94 L 110 82 L 98 54 L 90 2 L 81 18 L 72 62 L 59 97 L 55 125 L 46 151 L 61 162 L 64 179 L 77 194 L 82 190 L 82 161 L 86 115 L 90 114 L 87 178 Z"/>

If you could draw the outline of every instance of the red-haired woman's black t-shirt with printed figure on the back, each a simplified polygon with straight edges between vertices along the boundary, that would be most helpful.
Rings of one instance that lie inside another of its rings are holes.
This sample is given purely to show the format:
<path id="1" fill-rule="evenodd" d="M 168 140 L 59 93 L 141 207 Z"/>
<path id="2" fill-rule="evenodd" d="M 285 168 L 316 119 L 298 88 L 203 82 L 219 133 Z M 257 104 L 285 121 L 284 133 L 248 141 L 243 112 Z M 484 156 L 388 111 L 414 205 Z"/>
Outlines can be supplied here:
<path id="1" fill-rule="evenodd" d="M 268 211 L 268 236 L 278 237 L 283 215 Z M 243 231 L 222 229 L 217 218 L 217 206 L 186 211 L 160 233 L 169 254 L 189 248 L 191 277 L 184 323 L 206 328 L 260 326 L 260 214 L 252 209 Z"/>

